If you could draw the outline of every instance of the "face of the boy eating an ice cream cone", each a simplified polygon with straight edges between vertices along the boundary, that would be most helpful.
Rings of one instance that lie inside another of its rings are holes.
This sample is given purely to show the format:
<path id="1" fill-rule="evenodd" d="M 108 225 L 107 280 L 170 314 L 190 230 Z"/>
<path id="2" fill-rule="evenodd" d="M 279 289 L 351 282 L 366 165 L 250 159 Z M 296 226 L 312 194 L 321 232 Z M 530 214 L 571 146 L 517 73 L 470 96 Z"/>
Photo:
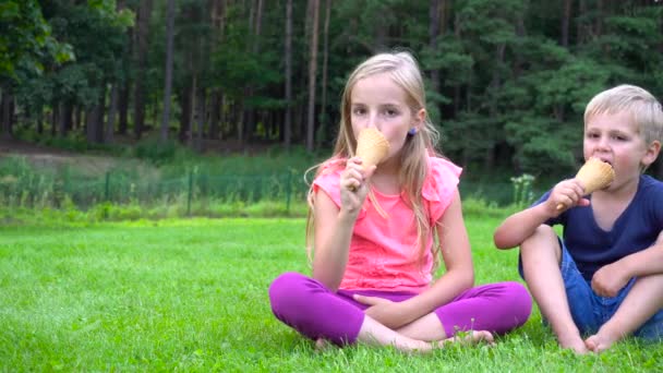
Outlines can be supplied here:
<path id="1" fill-rule="evenodd" d="M 650 145 L 627 111 L 594 115 L 584 127 L 584 159 L 595 157 L 611 164 L 615 170 L 613 185 L 638 178 L 641 167 L 655 160 L 658 148 L 653 152 Z"/>

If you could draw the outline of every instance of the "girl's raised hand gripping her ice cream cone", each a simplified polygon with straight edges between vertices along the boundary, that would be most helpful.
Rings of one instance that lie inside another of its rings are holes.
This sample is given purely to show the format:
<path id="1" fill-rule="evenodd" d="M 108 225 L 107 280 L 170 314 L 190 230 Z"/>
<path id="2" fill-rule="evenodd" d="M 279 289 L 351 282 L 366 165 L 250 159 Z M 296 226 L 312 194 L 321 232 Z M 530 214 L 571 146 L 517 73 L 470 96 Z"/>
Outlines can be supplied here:
<path id="1" fill-rule="evenodd" d="M 369 179 L 375 171 L 375 166 L 364 170 L 361 159 L 348 159 L 346 169 L 340 173 L 340 204 L 341 209 L 357 215 L 369 194 Z"/>

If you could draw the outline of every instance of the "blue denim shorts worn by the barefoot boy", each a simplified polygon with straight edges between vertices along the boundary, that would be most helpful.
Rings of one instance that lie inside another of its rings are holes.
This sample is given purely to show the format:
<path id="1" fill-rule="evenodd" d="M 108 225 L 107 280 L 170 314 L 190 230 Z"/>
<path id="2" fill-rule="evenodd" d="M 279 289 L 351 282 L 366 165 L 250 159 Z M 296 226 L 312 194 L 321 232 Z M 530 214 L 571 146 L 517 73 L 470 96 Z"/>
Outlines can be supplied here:
<path id="1" fill-rule="evenodd" d="M 605 324 L 617 311 L 624 298 L 628 294 L 636 278 L 631 278 L 628 284 L 619 290 L 616 297 L 598 296 L 591 287 L 591 282 L 586 280 L 578 270 L 576 262 L 569 254 L 568 250 L 559 240 L 562 246 L 562 279 L 566 287 L 566 297 L 568 305 L 574 317 L 574 322 L 580 334 L 590 335 L 599 330 L 601 325 Z M 525 279 L 522 274 L 522 263 L 518 261 L 518 270 L 520 277 Z M 652 294 L 652 297 L 661 297 L 662 294 Z M 545 321 L 544 321 L 545 323 Z M 647 340 L 663 339 L 663 310 L 659 310 L 651 318 L 640 326 L 634 335 Z"/>

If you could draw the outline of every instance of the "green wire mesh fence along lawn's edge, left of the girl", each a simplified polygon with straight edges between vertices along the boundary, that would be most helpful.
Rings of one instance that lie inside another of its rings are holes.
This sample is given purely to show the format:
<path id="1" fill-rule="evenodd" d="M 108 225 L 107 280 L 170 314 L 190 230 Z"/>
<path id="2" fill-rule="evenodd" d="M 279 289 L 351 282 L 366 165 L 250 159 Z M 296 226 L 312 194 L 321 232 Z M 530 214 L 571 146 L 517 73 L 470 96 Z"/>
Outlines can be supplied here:
<path id="1" fill-rule="evenodd" d="M 300 172 L 265 175 L 208 175 L 190 170 L 176 178 L 145 178 L 122 172 L 106 172 L 103 177 L 0 173 L 0 195 L 5 205 L 58 207 L 64 198 L 86 208 L 101 202 L 116 204 L 158 204 L 178 201 L 186 203 L 191 213 L 195 201 L 218 203 L 280 201 L 290 209 L 291 201 L 305 197 L 309 185 Z"/>

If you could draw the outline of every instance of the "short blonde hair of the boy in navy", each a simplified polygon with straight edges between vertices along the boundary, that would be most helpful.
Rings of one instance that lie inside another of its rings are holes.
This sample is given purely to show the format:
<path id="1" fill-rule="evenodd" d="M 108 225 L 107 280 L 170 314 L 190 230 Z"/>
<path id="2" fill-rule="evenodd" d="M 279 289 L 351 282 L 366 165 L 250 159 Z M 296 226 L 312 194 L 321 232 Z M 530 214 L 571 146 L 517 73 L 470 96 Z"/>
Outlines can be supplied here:
<path id="1" fill-rule="evenodd" d="M 638 125 L 638 131 L 649 146 L 663 142 L 663 108 L 649 92 L 623 84 L 594 96 L 584 109 L 584 127 L 596 115 L 627 111 Z"/>

